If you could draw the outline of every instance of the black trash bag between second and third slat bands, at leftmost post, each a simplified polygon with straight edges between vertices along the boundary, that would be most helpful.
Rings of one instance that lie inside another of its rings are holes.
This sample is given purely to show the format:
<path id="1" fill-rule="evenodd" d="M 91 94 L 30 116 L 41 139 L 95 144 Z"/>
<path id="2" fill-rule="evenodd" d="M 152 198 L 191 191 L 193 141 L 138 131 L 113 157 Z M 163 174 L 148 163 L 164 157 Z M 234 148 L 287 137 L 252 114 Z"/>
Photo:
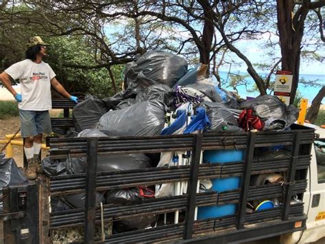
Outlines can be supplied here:
<path id="1" fill-rule="evenodd" d="M 53 212 L 71 210 L 76 208 L 84 208 L 86 193 L 77 193 L 60 197 L 51 197 L 51 209 Z M 104 203 L 104 195 L 96 192 L 96 206 Z"/>

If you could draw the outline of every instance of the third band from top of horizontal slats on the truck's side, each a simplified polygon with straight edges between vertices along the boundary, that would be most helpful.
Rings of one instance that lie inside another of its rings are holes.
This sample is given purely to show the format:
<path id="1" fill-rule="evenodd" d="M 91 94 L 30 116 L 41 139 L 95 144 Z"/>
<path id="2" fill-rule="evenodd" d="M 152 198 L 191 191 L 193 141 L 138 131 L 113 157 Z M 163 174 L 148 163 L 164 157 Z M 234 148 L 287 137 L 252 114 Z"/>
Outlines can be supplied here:
<path id="1" fill-rule="evenodd" d="M 306 190 L 306 180 L 296 181 L 293 186 L 293 195 L 302 193 Z M 198 193 L 196 206 L 222 206 L 228 203 L 239 203 L 241 189 L 228 190 L 226 192 L 205 192 Z M 257 199 L 272 199 L 281 197 L 283 188 L 280 184 L 269 186 L 250 187 L 248 201 Z M 175 197 L 165 197 L 161 199 L 147 199 L 130 206 L 104 205 L 104 219 L 106 221 L 117 221 L 141 217 L 147 214 L 161 214 L 164 212 L 174 212 L 186 209 L 186 199 L 188 195 Z M 96 210 L 96 221 L 99 223 L 100 209 Z M 265 217 L 265 214 L 262 214 Z M 260 219 L 261 220 L 261 219 Z M 84 224 L 84 208 L 78 210 L 66 210 L 63 212 L 53 212 L 50 217 L 51 228 L 62 228 Z"/>

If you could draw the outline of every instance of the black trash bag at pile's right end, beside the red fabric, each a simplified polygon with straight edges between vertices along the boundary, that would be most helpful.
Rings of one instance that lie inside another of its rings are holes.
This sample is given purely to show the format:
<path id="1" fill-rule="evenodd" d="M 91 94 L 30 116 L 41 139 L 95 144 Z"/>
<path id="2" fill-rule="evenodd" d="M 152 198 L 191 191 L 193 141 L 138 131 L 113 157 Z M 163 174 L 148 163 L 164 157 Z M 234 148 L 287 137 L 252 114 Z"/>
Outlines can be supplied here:
<path id="1" fill-rule="evenodd" d="M 298 119 L 299 109 L 293 105 L 287 106 L 272 95 L 264 95 L 240 104 L 241 109 L 254 109 L 265 126 L 263 131 L 282 131 L 291 126 Z"/>

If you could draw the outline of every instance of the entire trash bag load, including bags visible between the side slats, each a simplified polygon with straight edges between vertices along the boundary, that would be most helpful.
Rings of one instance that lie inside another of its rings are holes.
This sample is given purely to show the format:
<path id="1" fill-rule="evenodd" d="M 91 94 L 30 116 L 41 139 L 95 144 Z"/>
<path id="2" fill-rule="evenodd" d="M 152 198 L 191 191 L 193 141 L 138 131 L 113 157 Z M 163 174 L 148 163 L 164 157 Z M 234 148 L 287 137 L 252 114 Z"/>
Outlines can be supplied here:
<path id="1" fill-rule="evenodd" d="M 77 137 L 154 136 L 186 133 L 239 133 L 289 129 L 298 109 L 277 97 L 265 95 L 243 101 L 206 78 L 206 65 L 188 69 L 187 61 L 167 52 L 147 52 L 124 70 L 124 89 L 110 98 L 89 97 L 73 109 Z M 186 152 L 98 155 L 97 171 L 132 170 L 190 163 Z M 182 160 L 180 160 L 182 159 Z M 43 159 L 47 175 L 84 173 L 86 158 Z M 211 187 L 200 181 L 200 189 Z M 143 192 L 146 192 L 143 194 Z M 163 184 L 97 192 L 96 203 L 123 205 L 150 197 L 186 193 L 186 184 Z M 82 208 L 84 194 L 51 199 L 53 211 Z M 255 204 L 255 203 L 254 203 Z M 115 231 L 148 228 L 157 216 L 115 221 Z M 113 227 L 114 230 L 114 227 Z"/>

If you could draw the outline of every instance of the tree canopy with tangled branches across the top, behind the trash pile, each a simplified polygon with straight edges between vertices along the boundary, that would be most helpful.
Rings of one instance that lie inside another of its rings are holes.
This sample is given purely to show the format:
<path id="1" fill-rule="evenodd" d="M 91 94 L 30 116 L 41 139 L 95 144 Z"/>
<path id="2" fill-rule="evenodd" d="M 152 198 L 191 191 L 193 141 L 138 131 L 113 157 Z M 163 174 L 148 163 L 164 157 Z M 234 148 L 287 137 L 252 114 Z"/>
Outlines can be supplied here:
<path id="1" fill-rule="evenodd" d="M 212 73 L 218 77 L 219 67 L 227 62 L 224 50 L 230 50 L 247 65 L 248 73 L 256 82 L 258 90 L 261 94 L 265 94 L 267 89 L 272 87 L 271 74 L 283 57 L 283 54 L 282 57 L 276 56 L 271 58 L 269 64 L 257 66 L 238 45 L 242 40 L 261 38 L 265 34 L 276 36 L 278 18 L 276 5 L 282 2 L 280 0 L 278 2 L 176 0 L 157 1 L 156 4 L 146 0 L 24 2 L 29 8 L 29 14 L 12 15 L 10 11 L 5 11 L 4 14 L 8 14 L 14 22 L 34 23 L 49 35 L 82 36 L 95 48 L 95 62 L 91 65 L 64 63 L 65 67 L 80 69 L 105 67 L 110 71 L 113 65 L 123 65 L 147 50 L 159 49 L 182 54 L 190 62 L 193 60 L 193 63 L 197 62 L 197 56 L 201 63 L 209 65 L 213 62 Z M 318 2 L 321 4 L 311 3 L 309 7 L 313 8 L 309 10 L 314 10 L 316 19 L 322 20 L 321 10 L 315 7 L 322 5 L 324 0 Z M 297 8 L 294 10 L 296 14 L 304 12 Z M 300 18 L 299 14 L 297 16 L 298 21 L 304 19 Z M 313 23 L 308 18 L 306 20 Z M 283 26 L 288 25 L 284 23 Z M 320 32 L 322 35 L 322 31 Z M 279 30 L 278 34 L 283 37 L 282 31 Z M 304 42 L 300 41 L 301 43 Z M 274 54 L 276 41 L 266 44 Z M 272 55 L 272 52 L 269 54 Z M 301 51 L 302 54 L 309 52 L 311 51 L 304 49 Z M 299 62 L 296 64 L 299 65 Z M 262 66 L 269 70 L 266 77 L 258 74 L 256 69 Z M 297 79 L 296 77 L 294 76 L 294 79 Z M 117 87 L 115 78 L 112 75 L 110 78 L 112 87 Z M 293 89 L 296 88 L 297 86 Z"/>

